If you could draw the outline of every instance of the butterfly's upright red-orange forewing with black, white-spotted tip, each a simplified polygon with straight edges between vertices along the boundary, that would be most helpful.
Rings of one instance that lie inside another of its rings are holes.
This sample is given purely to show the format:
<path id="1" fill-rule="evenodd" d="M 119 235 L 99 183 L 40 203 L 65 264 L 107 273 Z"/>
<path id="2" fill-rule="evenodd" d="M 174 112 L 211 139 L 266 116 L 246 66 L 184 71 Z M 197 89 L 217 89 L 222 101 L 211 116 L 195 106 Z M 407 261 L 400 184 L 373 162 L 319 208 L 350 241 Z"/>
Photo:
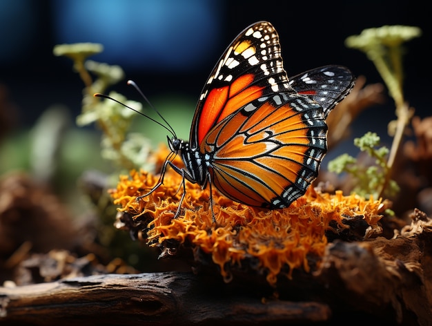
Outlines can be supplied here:
<path id="1" fill-rule="evenodd" d="M 288 89 L 275 28 L 267 21 L 254 23 L 234 39 L 210 73 L 193 117 L 190 146 L 197 148 L 211 128 L 254 99 Z"/>

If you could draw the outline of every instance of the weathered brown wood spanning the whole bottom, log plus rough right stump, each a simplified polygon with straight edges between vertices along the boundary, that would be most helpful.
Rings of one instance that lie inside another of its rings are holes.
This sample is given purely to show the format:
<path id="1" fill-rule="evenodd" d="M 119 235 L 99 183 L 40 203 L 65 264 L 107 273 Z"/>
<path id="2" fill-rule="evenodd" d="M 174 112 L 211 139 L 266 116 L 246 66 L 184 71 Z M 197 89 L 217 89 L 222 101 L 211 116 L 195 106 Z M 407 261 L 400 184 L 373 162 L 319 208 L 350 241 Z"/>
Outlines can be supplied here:
<path id="1" fill-rule="evenodd" d="M 320 269 L 295 270 L 277 289 L 247 269 L 226 284 L 210 265 L 197 275 L 69 278 L 0 287 L 0 324 L 332 325 L 348 315 L 348 321 L 429 326 L 431 266 L 432 220 L 415 211 L 394 238 L 329 243 Z"/>

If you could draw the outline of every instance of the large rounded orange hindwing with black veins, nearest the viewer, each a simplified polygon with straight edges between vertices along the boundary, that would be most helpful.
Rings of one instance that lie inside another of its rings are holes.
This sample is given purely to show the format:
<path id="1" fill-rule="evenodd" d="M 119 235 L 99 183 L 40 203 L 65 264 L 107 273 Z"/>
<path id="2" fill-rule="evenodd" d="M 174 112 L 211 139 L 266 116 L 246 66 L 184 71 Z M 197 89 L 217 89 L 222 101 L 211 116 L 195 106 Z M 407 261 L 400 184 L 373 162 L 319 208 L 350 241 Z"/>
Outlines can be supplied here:
<path id="1" fill-rule="evenodd" d="M 279 209 L 304 194 L 326 153 L 324 113 L 310 97 L 261 97 L 226 117 L 201 150 L 210 180 L 226 197 Z"/>

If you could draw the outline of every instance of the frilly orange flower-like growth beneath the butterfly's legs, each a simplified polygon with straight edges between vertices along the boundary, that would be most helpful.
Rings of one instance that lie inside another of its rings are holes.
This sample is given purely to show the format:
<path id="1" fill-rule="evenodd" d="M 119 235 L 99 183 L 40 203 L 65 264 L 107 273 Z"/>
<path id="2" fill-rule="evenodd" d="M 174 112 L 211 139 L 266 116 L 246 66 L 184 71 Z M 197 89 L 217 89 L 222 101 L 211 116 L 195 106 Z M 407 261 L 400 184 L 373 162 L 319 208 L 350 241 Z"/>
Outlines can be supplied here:
<path id="1" fill-rule="evenodd" d="M 160 161 L 162 157 L 166 155 L 157 155 Z M 180 161 L 175 164 L 181 166 Z M 137 200 L 158 180 L 158 176 L 144 171 L 122 175 L 117 189 L 111 191 L 114 203 L 121 206 L 119 211 L 139 224 L 151 247 L 170 249 L 173 243 L 193 247 L 212 258 L 226 281 L 232 277 L 231 271 L 244 267 L 246 261 L 253 262 L 251 269 L 264 272 L 271 285 L 279 274 L 291 277 L 293 269 L 310 271 L 310 259 L 319 262 L 324 256 L 326 232 L 348 229 L 344 222 L 359 216 L 369 226 L 369 233 L 379 231 L 377 222 L 384 207 L 373 198 L 344 196 L 342 191 L 335 195 L 319 193 L 309 187 L 290 207 L 268 210 L 233 202 L 215 191 L 213 212 L 217 222 L 213 223 L 208 189 L 190 182 L 186 182 L 181 213 L 175 218 L 183 190 L 181 175 L 173 169 L 166 171 L 163 185 Z"/>

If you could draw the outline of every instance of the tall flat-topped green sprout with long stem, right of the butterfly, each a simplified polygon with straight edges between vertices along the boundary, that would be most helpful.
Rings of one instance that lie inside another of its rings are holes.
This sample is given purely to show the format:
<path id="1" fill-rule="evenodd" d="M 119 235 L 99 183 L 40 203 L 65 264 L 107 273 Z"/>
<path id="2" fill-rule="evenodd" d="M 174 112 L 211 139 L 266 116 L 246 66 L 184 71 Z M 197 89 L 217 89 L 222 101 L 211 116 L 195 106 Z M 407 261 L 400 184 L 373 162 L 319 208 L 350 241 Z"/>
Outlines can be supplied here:
<path id="1" fill-rule="evenodd" d="M 392 167 L 395 162 L 397 150 L 400 148 L 404 130 L 413 117 L 413 108 L 409 107 L 404 99 L 403 92 L 403 68 L 402 56 L 404 55 L 403 44 L 415 37 L 420 37 L 422 30 L 413 26 L 382 26 L 380 28 L 367 28 L 360 35 L 353 35 L 345 40 L 348 48 L 356 48 L 366 53 L 367 57 L 380 73 L 384 83 L 389 89 L 389 94 L 395 101 L 396 117 L 391 122 L 389 133 L 393 136 L 393 143 L 389 158 L 386 162 L 386 175 L 380 195 L 384 193 L 390 182 Z"/>

